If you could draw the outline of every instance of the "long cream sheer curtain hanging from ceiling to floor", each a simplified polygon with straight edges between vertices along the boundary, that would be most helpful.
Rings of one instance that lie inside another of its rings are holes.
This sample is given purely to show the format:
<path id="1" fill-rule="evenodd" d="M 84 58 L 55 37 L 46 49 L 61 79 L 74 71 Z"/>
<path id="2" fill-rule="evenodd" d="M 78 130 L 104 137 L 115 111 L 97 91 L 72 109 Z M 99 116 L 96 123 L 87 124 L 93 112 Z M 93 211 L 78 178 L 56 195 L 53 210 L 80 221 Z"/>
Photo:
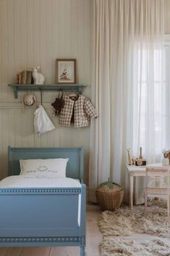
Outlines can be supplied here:
<path id="1" fill-rule="evenodd" d="M 91 125 L 91 201 L 108 178 L 126 187 L 127 147 L 137 157 L 143 146 L 150 162 L 160 160 L 163 22 L 163 0 L 93 0 L 92 99 L 99 118 Z"/>

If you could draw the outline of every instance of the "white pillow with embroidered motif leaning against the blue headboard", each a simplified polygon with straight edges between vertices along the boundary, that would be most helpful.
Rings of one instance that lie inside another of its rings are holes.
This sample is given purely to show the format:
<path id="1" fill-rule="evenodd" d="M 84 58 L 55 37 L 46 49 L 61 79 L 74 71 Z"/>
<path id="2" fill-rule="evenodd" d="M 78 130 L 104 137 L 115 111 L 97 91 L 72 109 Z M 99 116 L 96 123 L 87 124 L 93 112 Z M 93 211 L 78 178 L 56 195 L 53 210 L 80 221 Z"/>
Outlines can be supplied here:
<path id="1" fill-rule="evenodd" d="M 69 158 L 20 160 L 20 175 L 65 178 Z"/>

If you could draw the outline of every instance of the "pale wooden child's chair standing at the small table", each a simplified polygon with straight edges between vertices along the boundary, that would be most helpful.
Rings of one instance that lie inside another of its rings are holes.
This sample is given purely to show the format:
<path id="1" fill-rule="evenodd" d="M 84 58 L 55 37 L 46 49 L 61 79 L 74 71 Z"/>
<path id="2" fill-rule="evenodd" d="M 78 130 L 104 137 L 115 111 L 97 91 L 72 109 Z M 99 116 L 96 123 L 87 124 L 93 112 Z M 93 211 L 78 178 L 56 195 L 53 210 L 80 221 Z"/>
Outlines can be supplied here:
<path id="1" fill-rule="evenodd" d="M 145 176 L 145 215 L 147 214 L 148 197 L 161 197 L 167 199 L 167 211 L 169 221 L 169 199 L 170 199 L 170 169 L 169 167 L 146 168 Z"/>

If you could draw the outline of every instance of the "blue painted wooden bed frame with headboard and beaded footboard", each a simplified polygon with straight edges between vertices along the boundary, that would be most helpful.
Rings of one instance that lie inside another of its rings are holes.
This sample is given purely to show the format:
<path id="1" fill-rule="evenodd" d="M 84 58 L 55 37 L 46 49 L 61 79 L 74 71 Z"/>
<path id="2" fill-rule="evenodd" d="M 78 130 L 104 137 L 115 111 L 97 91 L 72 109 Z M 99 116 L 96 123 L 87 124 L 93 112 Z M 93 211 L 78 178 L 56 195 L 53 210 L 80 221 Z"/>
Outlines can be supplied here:
<path id="1" fill-rule="evenodd" d="M 69 158 L 67 177 L 81 188 L 0 189 L 0 247 L 79 246 L 85 256 L 86 199 L 83 148 L 8 149 L 9 176 L 20 173 L 20 159 Z M 77 222 L 81 194 L 80 226 Z"/>

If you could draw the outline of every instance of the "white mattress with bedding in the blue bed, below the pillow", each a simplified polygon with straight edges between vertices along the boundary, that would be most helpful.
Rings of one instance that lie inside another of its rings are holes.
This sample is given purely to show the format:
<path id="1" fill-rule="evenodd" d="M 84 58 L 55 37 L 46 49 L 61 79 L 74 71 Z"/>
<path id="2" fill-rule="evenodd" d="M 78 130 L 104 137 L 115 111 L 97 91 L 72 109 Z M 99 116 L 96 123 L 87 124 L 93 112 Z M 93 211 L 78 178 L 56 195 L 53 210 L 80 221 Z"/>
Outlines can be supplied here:
<path id="1" fill-rule="evenodd" d="M 31 176 L 9 176 L 0 181 L 0 189 L 5 188 L 80 188 L 81 183 L 74 178 L 48 178 Z M 80 226 L 81 194 L 79 195 L 77 223 Z"/>

